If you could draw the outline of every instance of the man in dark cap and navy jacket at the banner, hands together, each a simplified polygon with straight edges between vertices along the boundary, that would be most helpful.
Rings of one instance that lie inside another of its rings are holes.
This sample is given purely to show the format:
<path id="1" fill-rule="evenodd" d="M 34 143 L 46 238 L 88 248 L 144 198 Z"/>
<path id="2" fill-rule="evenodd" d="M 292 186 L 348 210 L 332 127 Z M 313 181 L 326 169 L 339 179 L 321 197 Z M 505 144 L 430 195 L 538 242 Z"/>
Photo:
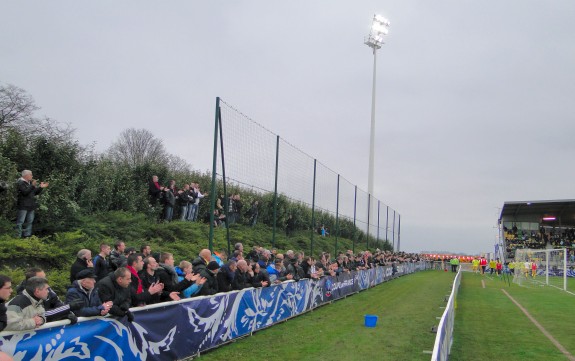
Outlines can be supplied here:
<path id="1" fill-rule="evenodd" d="M 112 301 L 102 304 L 98 290 L 95 289 L 96 273 L 91 268 L 82 270 L 76 281 L 66 292 L 66 303 L 77 316 L 105 316 L 113 305 Z"/>

